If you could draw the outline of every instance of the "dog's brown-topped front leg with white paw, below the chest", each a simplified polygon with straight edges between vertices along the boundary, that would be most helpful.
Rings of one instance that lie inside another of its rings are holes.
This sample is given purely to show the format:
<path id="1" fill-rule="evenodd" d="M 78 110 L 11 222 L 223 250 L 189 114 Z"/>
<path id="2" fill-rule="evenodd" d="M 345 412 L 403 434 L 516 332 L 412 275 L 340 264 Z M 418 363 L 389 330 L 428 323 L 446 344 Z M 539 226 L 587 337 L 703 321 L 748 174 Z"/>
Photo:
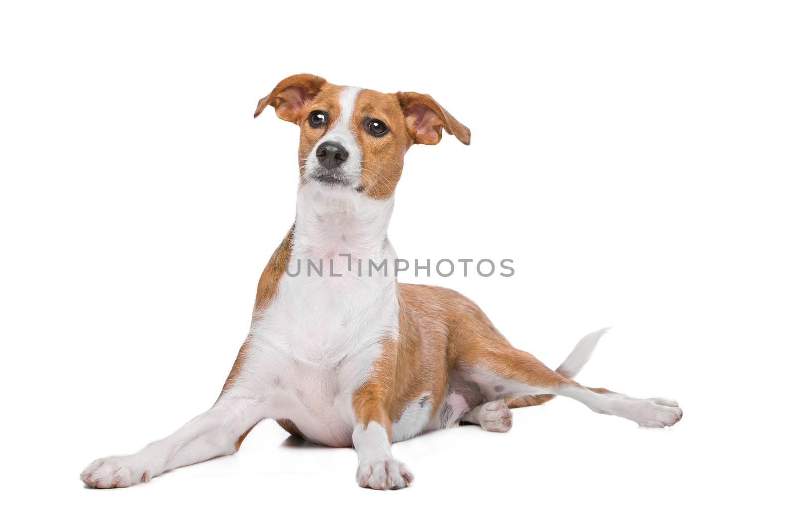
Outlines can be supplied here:
<path id="1" fill-rule="evenodd" d="M 392 457 L 392 424 L 388 415 L 391 389 L 383 377 L 374 377 L 353 394 L 356 427 L 353 446 L 359 467 L 357 483 L 371 489 L 401 489 L 409 486 L 414 476 L 399 460 Z"/>

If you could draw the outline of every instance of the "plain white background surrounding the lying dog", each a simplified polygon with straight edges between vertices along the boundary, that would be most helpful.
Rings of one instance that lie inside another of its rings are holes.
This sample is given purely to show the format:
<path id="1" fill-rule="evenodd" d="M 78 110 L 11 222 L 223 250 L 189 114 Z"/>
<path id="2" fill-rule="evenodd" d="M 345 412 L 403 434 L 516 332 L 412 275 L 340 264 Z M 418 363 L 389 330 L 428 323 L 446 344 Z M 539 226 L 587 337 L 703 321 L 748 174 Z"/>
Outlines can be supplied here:
<path id="1" fill-rule="evenodd" d="M 792 4 L 791 4 L 792 6 Z M 18 2 L 2 44 L 2 490 L 9 529 L 724 529 L 786 525 L 794 406 L 788 2 Z M 474 299 L 556 366 L 681 401 L 647 430 L 558 398 L 509 434 L 396 444 L 416 484 L 272 421 L 124 490 L 80 470 L 204 411 L 295 212 L 283 77 L 434 96 L 469 126 L 409 151 L 399 255 L 511 258 Z M 10 511 L 9 511 L 10 510 Z M 241 528 L 243 529 L 243 528 Z"/>

